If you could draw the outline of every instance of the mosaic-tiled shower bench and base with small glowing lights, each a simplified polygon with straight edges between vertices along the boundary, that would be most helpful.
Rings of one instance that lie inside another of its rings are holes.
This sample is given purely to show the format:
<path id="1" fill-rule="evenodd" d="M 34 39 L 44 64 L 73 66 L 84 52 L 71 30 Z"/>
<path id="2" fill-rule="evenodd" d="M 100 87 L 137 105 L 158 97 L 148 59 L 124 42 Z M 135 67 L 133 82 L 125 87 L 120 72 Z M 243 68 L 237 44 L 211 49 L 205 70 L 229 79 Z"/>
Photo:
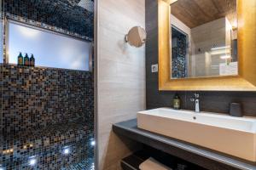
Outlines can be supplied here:
<path id="1" fill-rule="evenodd" d="M 0 137 L 1 138 L 1 137 Z M 5 134 L 0 141 L 0 165 L 7 170 L 61 169 L 75 162 L 93 157 L 93 127 L 79 119 L 76 122 L 52 125 L 15 135 Z M 64 149 L 70 152 L 64 154 Z M 31 160 L 37 163 L 29 165 Z M 73 165 L 77 169 L 89 169 L 90 162 Z M 71 168 L 73 169 L 73 168 Z"/>

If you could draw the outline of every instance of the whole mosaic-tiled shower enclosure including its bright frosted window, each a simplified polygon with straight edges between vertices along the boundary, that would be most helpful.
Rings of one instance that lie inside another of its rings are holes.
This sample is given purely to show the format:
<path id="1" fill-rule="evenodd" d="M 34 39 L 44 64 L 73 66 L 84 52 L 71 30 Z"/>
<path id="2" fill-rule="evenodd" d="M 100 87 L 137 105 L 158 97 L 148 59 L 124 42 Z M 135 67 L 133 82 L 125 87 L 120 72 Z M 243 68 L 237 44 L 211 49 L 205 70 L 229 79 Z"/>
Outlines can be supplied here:
<path id="1" fill-rule="evenodd" d="M 94 2 L 0 3 L 0 170 L 94 169 Z"/>

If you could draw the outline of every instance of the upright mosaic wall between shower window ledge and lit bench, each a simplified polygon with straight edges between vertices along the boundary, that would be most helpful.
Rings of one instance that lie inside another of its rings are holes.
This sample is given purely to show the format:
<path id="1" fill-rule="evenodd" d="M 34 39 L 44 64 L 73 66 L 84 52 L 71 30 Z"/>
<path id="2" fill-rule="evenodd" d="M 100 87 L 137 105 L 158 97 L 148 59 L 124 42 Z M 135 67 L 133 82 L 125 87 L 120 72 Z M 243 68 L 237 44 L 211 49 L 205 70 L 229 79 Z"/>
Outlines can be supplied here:
<path id="1" fill-rule="evenodd" d="M 87 120 L 93 127 L 89 71 L 2 65 L 3 134 Z"/>

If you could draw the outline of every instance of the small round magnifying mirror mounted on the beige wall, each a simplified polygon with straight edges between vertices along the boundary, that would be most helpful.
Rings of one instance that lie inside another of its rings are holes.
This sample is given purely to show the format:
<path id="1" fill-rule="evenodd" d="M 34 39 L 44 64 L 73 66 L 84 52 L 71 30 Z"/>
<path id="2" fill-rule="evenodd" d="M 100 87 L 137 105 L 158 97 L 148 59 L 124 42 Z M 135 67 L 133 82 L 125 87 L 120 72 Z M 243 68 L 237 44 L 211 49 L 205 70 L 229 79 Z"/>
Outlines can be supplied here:
<path id="1" fill-rule="evenodd" d="M 131 46 L 140 48 L 146 42 L 147 33 L 141 26 L 134 26 L 125 36 L 125 42 Z"/>

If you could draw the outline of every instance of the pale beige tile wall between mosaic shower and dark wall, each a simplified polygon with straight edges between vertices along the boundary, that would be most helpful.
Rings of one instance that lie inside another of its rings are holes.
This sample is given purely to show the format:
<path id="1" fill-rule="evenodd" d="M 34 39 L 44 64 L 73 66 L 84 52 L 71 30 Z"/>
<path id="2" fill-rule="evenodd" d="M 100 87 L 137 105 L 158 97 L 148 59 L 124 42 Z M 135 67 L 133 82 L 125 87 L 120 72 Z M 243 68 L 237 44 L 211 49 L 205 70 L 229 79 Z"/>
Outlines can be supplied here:
<path id="1" fill-rule="evenodd" d="M 99 0 L 97 14 L 97 159 L 100 170 L 115 170 L 137 144 L 116 136 L 112 124 L 145 109 L 145 47 L 124 41 L 132 26 L 145 27 L 145 0 Z"/>

